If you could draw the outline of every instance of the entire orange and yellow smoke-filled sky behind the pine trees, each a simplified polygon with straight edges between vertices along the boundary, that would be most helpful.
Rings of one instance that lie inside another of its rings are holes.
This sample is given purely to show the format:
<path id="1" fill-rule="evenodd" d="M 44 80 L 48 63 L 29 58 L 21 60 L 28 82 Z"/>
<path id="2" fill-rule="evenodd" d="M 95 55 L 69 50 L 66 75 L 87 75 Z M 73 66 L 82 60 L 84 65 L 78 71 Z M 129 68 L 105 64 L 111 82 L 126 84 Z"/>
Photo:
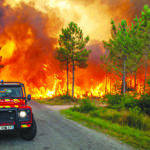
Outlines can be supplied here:
<path id="1" fill-rule="evenodd" d="M 61 28 L 74 21 L 90 36 L 92 50 L 89 67 L 76 70 L 76 85 L 97 84 L 105 76 L 99 57 L 105 53 L 102 41 L 110 38 L 111 19 L 130 23 L 144 4 L 150 6 L 150 0 L 0 0 L 1 78 L 34 87 L 53 86 L 54 74 L 65 78 L 55 48 Z"/>

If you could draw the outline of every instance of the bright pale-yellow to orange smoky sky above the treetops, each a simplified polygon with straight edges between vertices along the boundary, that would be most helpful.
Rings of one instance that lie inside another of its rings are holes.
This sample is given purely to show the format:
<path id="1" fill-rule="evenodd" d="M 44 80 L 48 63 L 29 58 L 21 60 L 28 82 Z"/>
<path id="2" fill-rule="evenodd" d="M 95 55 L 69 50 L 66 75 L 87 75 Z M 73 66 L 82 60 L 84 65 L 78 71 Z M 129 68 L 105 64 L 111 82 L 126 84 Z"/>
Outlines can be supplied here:
<path id="1" fill-rule="evenodd" d="M 58 28 L 60 23 L 67 25 L 70 21 L 77 22 L 90 35 L 91 39 L 106 40 L 110 37 L 110 20 L 131 19 L 139 14 L 149 0 L 5 0 L 4 5 L 15 8 L 28 5 L 49 17 L 55 17 L 53 25 Z M 24 4 L 23 4 L 24 3 Z M 23 8 L 25 9 L 25 8 Z M 24 11 L 22 9 L 22 11 Z M 20 10 L 21 11 L 21 10 Z M 23 13 L 23 12 L 22 12 Z M 29 12 L 32 13 L 32 12 Z M 31 16 L 34 14 L 30 14 Z M 36 14 L 35 14 L 36 15 Z M 39 22 L 38 22 L 39 23 Z M 53 29 L 53 30 L 56 30 Z M 60 28 L 59 28 L 60 29 Z M 49 28 L 49 30 L 51 30 Z M 49 31 L 50 32 L 50 31 Z M 54 32 L 54 31 L 53 31 Z M 55 31 L 58 33 L 57 30 Z M 54 33 L 53 33 L 54 34 Z"/>

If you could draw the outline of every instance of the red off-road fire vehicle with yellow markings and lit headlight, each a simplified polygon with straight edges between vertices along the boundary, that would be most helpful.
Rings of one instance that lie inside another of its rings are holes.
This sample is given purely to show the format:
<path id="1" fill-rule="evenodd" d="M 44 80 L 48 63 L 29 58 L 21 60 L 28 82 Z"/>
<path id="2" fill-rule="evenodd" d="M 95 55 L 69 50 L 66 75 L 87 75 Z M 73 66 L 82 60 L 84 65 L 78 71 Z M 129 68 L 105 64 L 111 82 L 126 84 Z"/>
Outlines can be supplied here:
<path id="1" fill-rule="evenodd" d="M 32 108 L 27 105 L 24 84 L 0 82 L 0 134 L 19 131 L 24 140 L 32 140 L 37 133 Z"/>

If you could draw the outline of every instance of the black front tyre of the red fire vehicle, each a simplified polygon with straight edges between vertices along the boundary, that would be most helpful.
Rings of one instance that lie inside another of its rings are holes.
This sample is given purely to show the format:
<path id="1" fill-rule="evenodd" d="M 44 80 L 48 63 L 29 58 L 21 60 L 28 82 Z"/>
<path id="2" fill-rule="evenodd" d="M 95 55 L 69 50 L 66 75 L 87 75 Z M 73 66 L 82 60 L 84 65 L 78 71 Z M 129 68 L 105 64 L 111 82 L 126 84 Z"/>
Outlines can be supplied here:
<path id="1" fill-rule="evenodd" d="M 31 141 L 36 136 L 36 133 L 37 126 L 34 119 L 32 120 L 32 125 L 30 128 L 21 129 L 20 131 L 21 138 L 26 141 Z"/>

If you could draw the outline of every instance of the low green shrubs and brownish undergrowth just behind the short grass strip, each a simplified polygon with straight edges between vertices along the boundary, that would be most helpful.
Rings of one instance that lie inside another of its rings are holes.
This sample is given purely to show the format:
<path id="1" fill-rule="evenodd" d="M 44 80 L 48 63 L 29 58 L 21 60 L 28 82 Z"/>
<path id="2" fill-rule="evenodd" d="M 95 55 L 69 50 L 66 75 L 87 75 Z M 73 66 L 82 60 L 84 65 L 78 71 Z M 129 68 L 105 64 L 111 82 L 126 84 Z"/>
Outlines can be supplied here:
<path id="1" fill-rule="evenodd" d="M 120 101 L 120 105 L 117 103 L 117 107 L 109 106 L 115 108 L 111 109 L 96 107 L 90 102 L 90 100 L 85 99 L 80 103 L 80 107 L 73 107 L 71 110 L 81 113 L 89 113 L 91 117 L 102 118 L 120 125 L 128 125 L 142 130 L 150 130 L 150 118 L 142 113 L 140 107 L 131 104 L 131 101 L 129 102 L 128 100 L 126 100 L 125 103 Z M 130 105 L 132 107 L 129 107 Z"/>

